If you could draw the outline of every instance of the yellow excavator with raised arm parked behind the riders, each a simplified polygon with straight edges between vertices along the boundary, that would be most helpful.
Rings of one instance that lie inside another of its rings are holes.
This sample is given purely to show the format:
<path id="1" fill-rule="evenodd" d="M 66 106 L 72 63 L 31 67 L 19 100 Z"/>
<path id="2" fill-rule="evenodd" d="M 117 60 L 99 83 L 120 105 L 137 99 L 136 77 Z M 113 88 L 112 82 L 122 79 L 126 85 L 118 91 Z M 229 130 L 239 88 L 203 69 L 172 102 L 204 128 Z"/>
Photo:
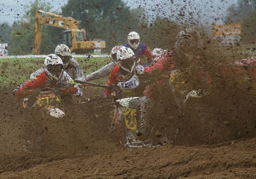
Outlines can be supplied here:
<path id="1" fill-rule="evenodd" d="M 42 16 L 42 14 L 48 16 Z M 40 54 L 43 25 L 66 29 L 66 31 L 62 33 L 62 43 L 67 45 L 71 52 L 106 48 L 105 41 L 87 41 L 85 30 L 79 27 L 80 22 L 78 20 L 74 20 L 72 17 L 63 17 L 50 12 L 37 10 L 34 18 L 34 55 Z"/>

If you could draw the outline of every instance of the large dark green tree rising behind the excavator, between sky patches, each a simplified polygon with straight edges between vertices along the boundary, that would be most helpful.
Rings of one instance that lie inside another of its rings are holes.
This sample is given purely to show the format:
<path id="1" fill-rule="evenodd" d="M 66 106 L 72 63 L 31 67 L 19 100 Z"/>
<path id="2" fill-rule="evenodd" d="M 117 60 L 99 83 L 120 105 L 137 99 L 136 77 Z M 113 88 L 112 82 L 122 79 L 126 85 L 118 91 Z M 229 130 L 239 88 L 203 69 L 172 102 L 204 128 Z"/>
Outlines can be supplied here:
<path id="1" fill-rule="evenodd" d="M 80 20 L 89 40 L 105 40 L 107 52 L 118 44 L 126 44 L 128 33 L 141 27 L 122 0 L 69 0 L 62 15 Z"/>

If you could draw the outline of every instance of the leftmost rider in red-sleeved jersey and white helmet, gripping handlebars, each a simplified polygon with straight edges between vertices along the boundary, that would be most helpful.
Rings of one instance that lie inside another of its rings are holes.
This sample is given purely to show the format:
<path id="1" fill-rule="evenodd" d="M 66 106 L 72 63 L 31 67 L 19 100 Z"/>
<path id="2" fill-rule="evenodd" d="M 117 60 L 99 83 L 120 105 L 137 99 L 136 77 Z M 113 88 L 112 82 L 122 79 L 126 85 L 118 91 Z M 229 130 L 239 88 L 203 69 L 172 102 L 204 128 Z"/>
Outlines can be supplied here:
<path id="1" fill-rule="evenodd" d="M 63 68 L 64 64 L 60 57 L 55 54 L 48 55 L 44 61 L 44 72 L 19 85 L 13 90 L 13 94 L 22 98 L 31 95 L 37 89 L 49 87 L 58 91 L 56 93 L 64 104 L 72 103 L 74 97 L 81 97 L 83 93 Z"/>

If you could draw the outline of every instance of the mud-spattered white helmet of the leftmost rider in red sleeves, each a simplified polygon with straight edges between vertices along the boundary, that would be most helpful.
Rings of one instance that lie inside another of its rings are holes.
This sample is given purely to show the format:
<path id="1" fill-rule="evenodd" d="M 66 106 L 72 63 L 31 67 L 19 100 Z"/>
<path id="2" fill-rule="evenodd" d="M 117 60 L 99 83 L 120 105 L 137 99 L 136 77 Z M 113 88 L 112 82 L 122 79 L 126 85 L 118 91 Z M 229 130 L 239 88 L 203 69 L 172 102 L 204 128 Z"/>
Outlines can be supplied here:
<path id="1" fill-rule="evenodd" d="M 59 80 L 63 73 L 63 62 L 55 54 L 48 55 L 44 60 L 44 70 L 50 80 Z"/>

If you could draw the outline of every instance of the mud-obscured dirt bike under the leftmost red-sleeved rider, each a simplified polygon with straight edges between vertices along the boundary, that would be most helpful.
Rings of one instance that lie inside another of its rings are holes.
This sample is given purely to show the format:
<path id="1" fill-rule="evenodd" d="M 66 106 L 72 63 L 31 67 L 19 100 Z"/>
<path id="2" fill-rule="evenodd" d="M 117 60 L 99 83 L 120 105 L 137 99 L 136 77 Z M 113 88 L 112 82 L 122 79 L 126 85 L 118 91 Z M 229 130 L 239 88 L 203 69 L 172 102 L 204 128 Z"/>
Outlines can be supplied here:
<path id="1" fill-rule="evenodd" d="M 64 88 L 60 90 L 52 88 L 33 90 L 32 94 L 30 91 L 31 95 L 23 100 L 24 111 L 21 120 L 20 139 L 24 141 L 25 151 L 53 151 L 55 149 L 69 150 L 74 148 L 73 145 L 68 146 L 69 148 L 66 145 L 74 139 L 74 135 L 77 135 L 79 130 L 84 131 L 85 125 L 83 120 L 80 120 L 81 117 L 75 119 L 70 117 L 70 115 L 73 116 L 73 104 L 68 102 L 70 99 L 72 100 L 72 95 L 62 91 Z M 72 130 L 74 121 L 76 123 L 81 122 L 81 125 L 78 125 L 81 128 L 76 127 L 76 130 Z M 56 142 L 63 145 L 55 146 Z M 62 147 L 64 144 L 65 147 Z"/>

